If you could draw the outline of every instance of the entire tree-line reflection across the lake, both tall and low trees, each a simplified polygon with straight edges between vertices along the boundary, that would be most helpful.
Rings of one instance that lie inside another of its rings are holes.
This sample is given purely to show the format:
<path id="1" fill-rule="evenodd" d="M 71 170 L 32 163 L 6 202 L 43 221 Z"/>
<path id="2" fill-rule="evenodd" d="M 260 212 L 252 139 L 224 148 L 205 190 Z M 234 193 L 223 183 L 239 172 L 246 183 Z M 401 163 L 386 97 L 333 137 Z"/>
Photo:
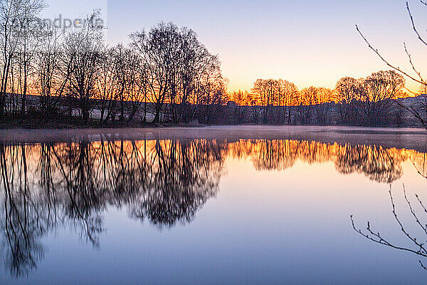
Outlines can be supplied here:
<path id="1" fill-rule="evenodd" d="M 0 145 L 4 266 L 22 276 L 43 259 L 42 240 L 69 227 L 100 247 L 103 214 L 125 208 L 155 227 L 188 223 L 215 197 L 227 157 L 255 170 L 286 170 L 297 161 L 332 162 L 338 172 L 391 183 L 411 160 L 426 175 L 425 154 L 378 145 L 297 140 L 140 140 Z"/>

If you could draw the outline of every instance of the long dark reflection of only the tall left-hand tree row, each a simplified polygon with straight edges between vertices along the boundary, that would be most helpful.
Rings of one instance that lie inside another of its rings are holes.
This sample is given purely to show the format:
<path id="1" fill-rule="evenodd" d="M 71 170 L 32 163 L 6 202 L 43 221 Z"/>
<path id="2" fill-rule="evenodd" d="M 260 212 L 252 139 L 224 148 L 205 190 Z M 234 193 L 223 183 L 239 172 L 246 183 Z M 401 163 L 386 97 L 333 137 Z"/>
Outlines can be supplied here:
<path id="1" fill-rule="evenodd" d="M 6 266 L 15 276 L 34 269 L 41 238 L 59 226 L 97 247 L 110 206 L 158 227 L 191 221 L 218 191 L 225 149 L 207 140 L 0 145 Z"/>

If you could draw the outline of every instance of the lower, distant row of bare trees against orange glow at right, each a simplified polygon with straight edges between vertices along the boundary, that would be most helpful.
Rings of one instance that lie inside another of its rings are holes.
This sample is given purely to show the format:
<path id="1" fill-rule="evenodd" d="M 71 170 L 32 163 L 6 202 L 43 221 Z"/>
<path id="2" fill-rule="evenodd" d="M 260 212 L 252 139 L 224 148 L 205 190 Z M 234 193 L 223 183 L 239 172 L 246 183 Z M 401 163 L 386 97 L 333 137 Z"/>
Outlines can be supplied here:
<path id="1" fill-rule="evenodd" d="M 254 123 L 327 125 L 335 109 L 338 124 L 378 125 L 391 124 L 403 115 L 396 99 L 405 96 L 404 86 L 404 77 L 395 71 L 379 71 L 361 79 L 344 77 L 334 90 L 314 86 L 298 90 L 283 79 L 258 79 L 251 93 L 238 91 L 232 98 L 237 105 L 253 107 Z M 238 113 L 236 118 L 244 120 L 246 115 Z"/>

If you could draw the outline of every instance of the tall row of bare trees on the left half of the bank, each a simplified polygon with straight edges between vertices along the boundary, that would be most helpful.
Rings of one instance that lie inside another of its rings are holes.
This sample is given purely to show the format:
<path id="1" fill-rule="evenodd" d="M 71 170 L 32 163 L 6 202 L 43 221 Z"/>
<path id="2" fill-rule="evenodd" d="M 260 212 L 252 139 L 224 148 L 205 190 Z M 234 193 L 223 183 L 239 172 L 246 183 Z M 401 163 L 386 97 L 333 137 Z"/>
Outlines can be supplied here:
<path id="1" fill-rule="evenodd" d="M 128 45 L 107 46 L 100 11 L 85 25 L 58 28 L 41 19 L 42 0 L 0 4 L 2 119 L 52 119 L 65 109 L 88 123 L 96 109 L 100 123 L 137 113 L 153 123 L 209 123 L 217 113 L 201 105 L 226 103 L 221 63 L 189 28 L 161 23 L 132 33 Z M 38 95 L 31 106 L 30 93 Z"/>

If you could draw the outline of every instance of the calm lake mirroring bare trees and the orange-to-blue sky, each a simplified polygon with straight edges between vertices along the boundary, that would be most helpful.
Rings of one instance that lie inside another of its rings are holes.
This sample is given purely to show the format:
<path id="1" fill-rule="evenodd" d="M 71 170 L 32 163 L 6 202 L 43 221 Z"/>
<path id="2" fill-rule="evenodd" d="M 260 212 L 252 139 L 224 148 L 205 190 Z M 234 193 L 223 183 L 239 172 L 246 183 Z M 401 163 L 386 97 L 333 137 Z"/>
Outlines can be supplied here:
<path id="1" fill-rule="evenodd" d="M 2 130 L 0 284 L 423 284 L 426 177 L 417 129 Z"/>

